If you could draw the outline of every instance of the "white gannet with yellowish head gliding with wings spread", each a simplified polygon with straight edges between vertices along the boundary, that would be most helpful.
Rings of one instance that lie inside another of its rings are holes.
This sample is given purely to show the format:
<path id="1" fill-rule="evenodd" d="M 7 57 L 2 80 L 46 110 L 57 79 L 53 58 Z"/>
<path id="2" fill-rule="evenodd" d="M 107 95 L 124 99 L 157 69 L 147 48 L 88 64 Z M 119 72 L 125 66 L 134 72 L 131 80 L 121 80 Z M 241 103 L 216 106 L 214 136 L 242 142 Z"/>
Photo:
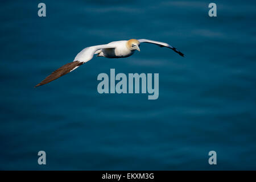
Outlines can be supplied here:
<path id="1" fill-rule="evenodd" d="M 151 43 L 151 44 L 156 44 L 160 47 L 167 47 L 179 53 L 180 56 L 184 57 L 183 53 L 181 53 L 175 47 L 172 47 L 167 43 L 157 42 L 154 40 L 147 40 L 147 39 L 120 40 L 120 41 L 110 42 L 108 44 L 91 46 L 91 47 L 86 47 L 82 49 L 82 51 L 76 55 L 73 62 L 65 64 L 59 69 L 56 69 L 54 72 L 51 73 L 51 75 L 47 76 L 43 81 L 41 81 L 36 86 L 47 84 L 48 82 L 56 80 L 57 78 L 63 75 L 66 75 L 69 72 L 72 72 L 74 69 L 80 67 L 80 65 L 91 60 L 94 54 L 97 54 L 97 56 L 100 56 L 100 57 L 108 57 L 108 58 L 129 57 L 133 55 L 135 50 L 141 51 L 141 49 L 139 49 L 139 46 L 141 45 L 141 43 Z"/>

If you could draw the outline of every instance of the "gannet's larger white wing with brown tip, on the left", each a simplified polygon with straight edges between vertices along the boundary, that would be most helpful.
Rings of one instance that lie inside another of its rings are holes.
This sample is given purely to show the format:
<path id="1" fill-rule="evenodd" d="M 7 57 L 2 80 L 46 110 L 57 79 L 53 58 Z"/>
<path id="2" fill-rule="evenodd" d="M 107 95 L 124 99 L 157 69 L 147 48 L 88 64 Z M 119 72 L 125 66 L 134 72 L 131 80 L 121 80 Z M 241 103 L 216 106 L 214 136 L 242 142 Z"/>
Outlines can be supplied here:
<path id="1" fill-rule="evenodd" d="M 94 53 L 98 49 L 104 49 L 104 48 L 115 48 L 113 46 L 109 46 L 107 44 L 105 45 L 99 45 L 99 46 L 92 46 L 92 47 L 86 47 L 82 49 L 81 52 L 79 52 L 74 61 L 68 64 L 63 65 L 59 69 L 56 69 L 54 72 L 51 73 L 51 75 L 47 76 L 43 81 L 41 81 L 36 86 L 41 86 L 44 84 L 48 84 L 48 82 L 51 82 L 53 80 L 56 80 L 57 78 L 66 75 L 69 72 L 72 72 L 74 69 L 80 67 L 80 65 L 86 63 L 87 61 L 91 60 L 93 58 Z M 35 86 L 35 87 L 36 87 Z"/>

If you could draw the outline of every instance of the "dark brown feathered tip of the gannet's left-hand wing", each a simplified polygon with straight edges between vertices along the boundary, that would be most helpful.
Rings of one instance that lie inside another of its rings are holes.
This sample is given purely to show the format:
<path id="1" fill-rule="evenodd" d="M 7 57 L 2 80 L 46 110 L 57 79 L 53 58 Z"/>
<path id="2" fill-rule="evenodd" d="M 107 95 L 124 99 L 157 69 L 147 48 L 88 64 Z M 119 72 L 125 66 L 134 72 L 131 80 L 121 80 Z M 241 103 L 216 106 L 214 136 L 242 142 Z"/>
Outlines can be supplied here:
<path id="1" fill-rule="evenodd" d="M 48 82 L 51 82 L 53 80 L 56 80 L 57 78 L 66 75 L 67 73 L 71 72 L 74 68 L 79 67 L 84 63 L 80 61 L 73 61 L 71 63 L 65 64 L 59 69 L 56 69 L 54 72 L 51 73 L 51 75 L 47 76 L 43 81 L 41 81 L 38 85 L 36 86 L 41 86 L 44 84 L 48 84 Z M 36 87 L 35 86 L 35 87 Z"/>

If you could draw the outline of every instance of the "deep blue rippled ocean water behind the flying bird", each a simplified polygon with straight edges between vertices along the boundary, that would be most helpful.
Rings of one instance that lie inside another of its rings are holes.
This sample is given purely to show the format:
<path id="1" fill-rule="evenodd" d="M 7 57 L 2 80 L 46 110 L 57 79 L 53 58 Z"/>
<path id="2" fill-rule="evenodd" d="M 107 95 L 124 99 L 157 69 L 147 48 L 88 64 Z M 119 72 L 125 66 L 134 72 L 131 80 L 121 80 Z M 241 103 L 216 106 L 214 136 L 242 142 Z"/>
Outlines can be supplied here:
<path id="1" fill-rule="evenodd" d="M 256 2 L 0 2 L 0 169 L 256 169 Z M 94 57 L 38 82 L 81 49 L 151 39 L 124 59 Z M 159 73 L 159 98 L 99 94 L 97 76 Z M 38 151 L 47 165 L 38 165 Z M 208 152 L 217 152 L 217 165 Z"/>

